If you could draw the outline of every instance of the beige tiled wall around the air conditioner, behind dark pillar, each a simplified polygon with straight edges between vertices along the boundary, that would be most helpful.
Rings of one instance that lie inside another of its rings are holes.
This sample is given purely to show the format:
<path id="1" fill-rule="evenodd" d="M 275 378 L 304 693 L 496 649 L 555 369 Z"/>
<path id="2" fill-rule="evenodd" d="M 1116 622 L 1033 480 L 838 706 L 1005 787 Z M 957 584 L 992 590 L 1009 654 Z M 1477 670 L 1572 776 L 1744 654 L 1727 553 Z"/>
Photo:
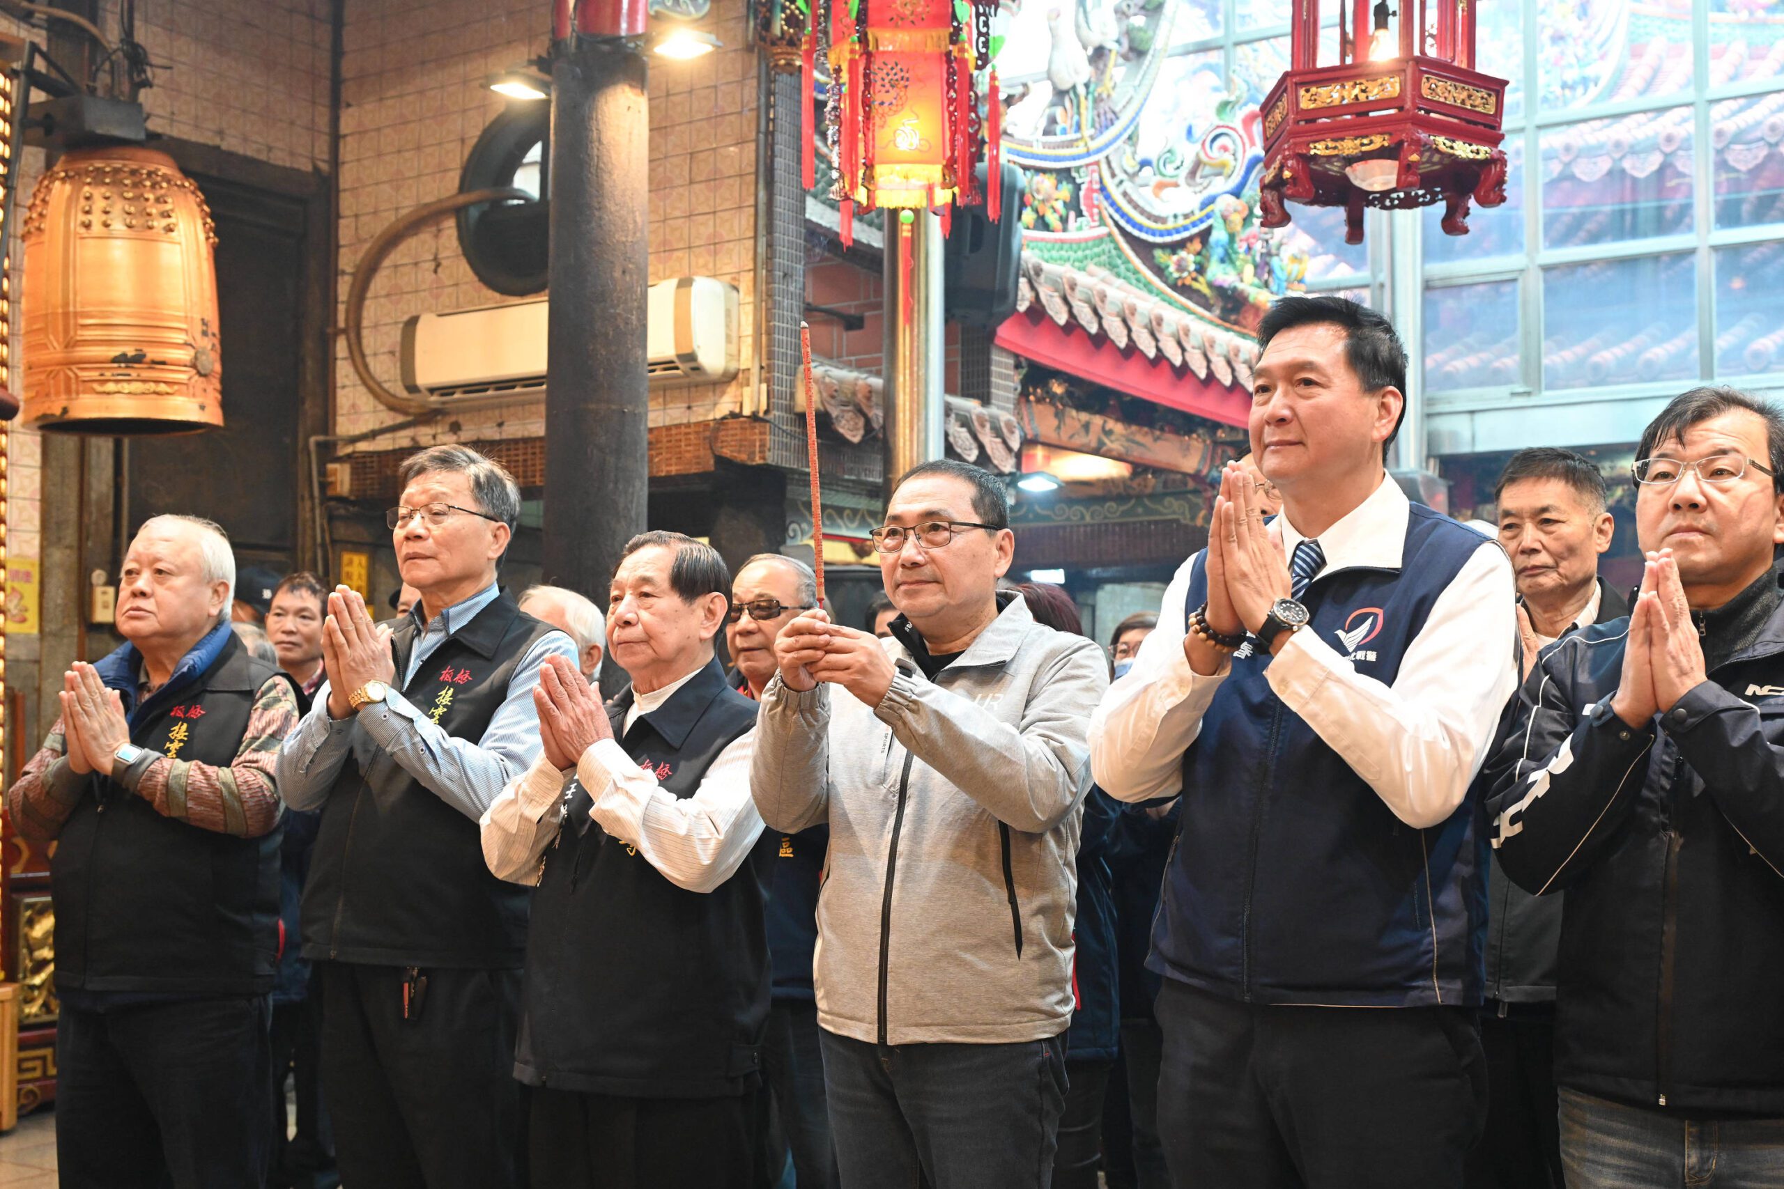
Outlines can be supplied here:
<path id="1" fill-rule="evenodd" d="M 548 50 L 544 0 L 357 0 L 348 5 L 341 112 L 341 294 L 366 244 L 416 203 L 451 194 L 458 169 L 503 100 L 491 71 Z M 726 385 L 651 392 L 653 426 L 703 421 L 744 406 L 755 349 L 756 53 L 744 0 L 714 0 L 701 29 L 723 48 L 694 62 L 649 64 L 649 280 L 717 276 L 740 294 L 740 373 Z M 400 246 L 366 303 L 373 373 L 396 387 L 403 323 L 428 310 L 494 305 L 458 255 L 450 221 Z M 337 348 L 335 433 L 400 419 L 359 383 Z M 539 401 L 466 412 L 421 431 L 378 435 L 353 451 L 437 440 L 501 440 L 544 431 Z"/>

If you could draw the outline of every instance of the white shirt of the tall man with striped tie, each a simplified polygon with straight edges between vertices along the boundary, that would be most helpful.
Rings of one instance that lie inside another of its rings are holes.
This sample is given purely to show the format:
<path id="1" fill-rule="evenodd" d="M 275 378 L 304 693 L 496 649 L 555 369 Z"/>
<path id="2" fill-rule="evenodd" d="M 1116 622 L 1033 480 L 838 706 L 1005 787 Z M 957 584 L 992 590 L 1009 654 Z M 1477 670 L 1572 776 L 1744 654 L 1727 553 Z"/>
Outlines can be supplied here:
<path id="1" fill-rule="evenodd" d="M 1409 504 L 1383 476 L 1375 492 L 1320 537 L 1320 579 L 1352 567 L 1400 569 Z M 1302 533 L 1277 517 L 1286 556 Z M 1110 686 L 1090 720 L 1090 765 L 1120 800 L 1183 791 L 1183 752 L 1201 731 L 1231 665 L 1210 677 L 1183 652 L 1192 556 L 1177 569 L 1158 611 L 1158 629 L 1133 668 Z M 1345 652 L 1311 629 L 1295 631 L 1265 668 L 1288 709 L 1361 775 L 1397 818 L 1416 829 L 1449 818 L 1493 745 L 1506 701 L 1516 690 L 1515 585 L 1506 551 L 1490 540 L 1438 595 L 1408 645 L 1393 685 L 1359 674 Z M 1349 649 L 1347 649 L 1349 651 Z"/>

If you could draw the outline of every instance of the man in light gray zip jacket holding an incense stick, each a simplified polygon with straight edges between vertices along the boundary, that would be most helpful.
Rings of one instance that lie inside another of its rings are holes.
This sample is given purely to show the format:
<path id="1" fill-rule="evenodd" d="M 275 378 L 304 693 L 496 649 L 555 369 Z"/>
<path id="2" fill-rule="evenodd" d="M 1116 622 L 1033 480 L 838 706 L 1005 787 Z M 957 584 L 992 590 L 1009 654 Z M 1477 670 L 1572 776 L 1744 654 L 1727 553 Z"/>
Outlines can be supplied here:
<path id="1" fill-rule="evenodd" d="M 933 1189 L 1051 1178 L 1108 668 L 997 592 L 1008 524 L 988 472 L 912 469 L 874 529 L 892 638 L 801 615 L 762 692 L 762 818 L 830 825 L 815 984 L 846 1189 L 906 1189 L 919 1168 Z"/>

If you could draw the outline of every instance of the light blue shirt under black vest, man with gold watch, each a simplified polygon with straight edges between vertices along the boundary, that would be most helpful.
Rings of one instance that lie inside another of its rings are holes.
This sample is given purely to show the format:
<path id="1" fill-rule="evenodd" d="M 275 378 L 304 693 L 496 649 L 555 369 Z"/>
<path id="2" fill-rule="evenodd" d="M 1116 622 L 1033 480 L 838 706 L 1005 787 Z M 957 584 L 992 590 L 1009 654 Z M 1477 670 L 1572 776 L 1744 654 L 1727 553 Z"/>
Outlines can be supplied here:
<path id="1" fill-rule="evenodd" d="M 500 588 L 491 583 L 478 594 L 455 603 L 423 627 L 409 654 L 409 668 L 400 674 L 409 685 L 455 631 L 494 603 Z M 419 610 L 419 604 L 417 604 Z M 328 717 L 328 683 L 316 692 L 310 713 L 285 736 L 278 750 L 278 791 L 293 809 L 319 809 L 328 800 L 341 765 L 351 754 L 375 797 L 391 797 L 410 779 L 473 822 L 483 816 L 503 786 L 526 772 L 539 758 L 539 713 L 533 686 L 539 668 L 551 654 L 576 663 L 576 645 L 562 631 L 533 642 L 521 656 L 508 681 L 508 695 L 480 740 L 448 734 L 426 711 L 391 690 L 382 702 L 371 702 L 346 718 Z"/>

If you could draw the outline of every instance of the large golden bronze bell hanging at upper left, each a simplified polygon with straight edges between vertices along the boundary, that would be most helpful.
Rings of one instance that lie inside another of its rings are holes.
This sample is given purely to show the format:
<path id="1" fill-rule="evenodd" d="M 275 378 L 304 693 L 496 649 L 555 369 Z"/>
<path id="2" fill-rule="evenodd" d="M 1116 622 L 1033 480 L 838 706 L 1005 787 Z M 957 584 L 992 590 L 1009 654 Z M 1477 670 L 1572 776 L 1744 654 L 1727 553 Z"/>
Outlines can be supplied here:
<path id="1" fill-rule="evenodd" d="M 173 159 L 66 153 L 25 214 L 25 422 L 64 433 L 223 424 L 216 225 Z"/>

